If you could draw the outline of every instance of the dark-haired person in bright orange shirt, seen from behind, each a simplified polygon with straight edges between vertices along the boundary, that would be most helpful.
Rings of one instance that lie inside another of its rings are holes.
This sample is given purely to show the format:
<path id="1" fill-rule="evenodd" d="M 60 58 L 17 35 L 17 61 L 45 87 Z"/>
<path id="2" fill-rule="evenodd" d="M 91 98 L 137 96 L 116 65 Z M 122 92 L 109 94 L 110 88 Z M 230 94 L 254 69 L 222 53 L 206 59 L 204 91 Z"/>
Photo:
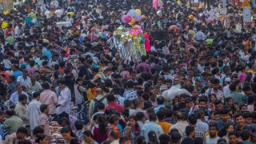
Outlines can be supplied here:
<path id="1" fill-rule="evenodd" d="M 158 110 L 157 117 L 158 117 L 157 124 L 162 127 L 162 130 L 163 130 L 164 134 L 168 134 L 168 132 L 170 130 L 170 126 L 172 126 L 172 125 L 165 121 L 165 119 L 166 119 L 165 109 Z"/>

